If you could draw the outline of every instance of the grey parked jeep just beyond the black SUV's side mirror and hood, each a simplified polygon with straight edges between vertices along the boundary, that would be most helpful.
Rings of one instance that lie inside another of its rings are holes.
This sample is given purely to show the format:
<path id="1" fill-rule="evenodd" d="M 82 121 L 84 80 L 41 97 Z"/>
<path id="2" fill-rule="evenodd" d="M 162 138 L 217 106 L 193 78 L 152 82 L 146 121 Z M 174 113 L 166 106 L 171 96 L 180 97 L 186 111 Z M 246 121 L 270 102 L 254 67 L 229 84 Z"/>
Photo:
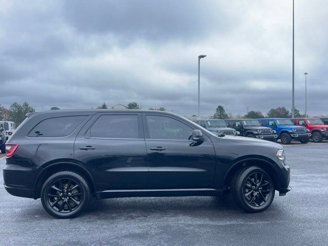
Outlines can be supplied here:
<path id="1" fill-rule="evenodd" d="M 218 135 L 234 135 L 238 132 L 227 126 L 226 121 L 223 119 L 206 119 L 206 120 L 193 120 L 196 124 Z"/>

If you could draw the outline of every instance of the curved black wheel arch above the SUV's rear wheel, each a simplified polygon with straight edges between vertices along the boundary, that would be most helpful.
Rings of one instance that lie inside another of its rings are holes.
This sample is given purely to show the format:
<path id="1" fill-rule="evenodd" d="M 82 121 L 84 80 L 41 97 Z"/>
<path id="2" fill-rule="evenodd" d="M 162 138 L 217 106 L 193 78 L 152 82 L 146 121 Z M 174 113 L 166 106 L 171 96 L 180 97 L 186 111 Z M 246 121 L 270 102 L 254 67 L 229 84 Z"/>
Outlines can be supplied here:
<path id="1" fill-rule="evenodd" d="M 38 173 L 34 182 L 34 199 L 40 198 L 43 183 L 47 180 L 47 178 L 50 177 L 52 174 L 60 171 L 73 171 L 80 174 L 89 183 L 91 193 L 94 194 L 95 192 L 97 192 L 95 181 L 86 168 L 74 162 L 60 161 L 50 164 Z"/>

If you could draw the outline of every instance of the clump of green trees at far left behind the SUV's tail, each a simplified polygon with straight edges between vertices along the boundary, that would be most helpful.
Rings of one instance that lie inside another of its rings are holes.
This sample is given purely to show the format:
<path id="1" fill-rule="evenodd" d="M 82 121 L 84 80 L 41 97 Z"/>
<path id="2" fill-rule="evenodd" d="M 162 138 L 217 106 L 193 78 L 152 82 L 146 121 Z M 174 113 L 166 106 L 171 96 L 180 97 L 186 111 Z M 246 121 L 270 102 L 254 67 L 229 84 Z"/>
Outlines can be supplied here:
<path id="1" fill-rule="evenodd" d="M 0 120 L 13 121 L 18 126 L 26 118 L 26 114 L 35 112 L 35 109 L 31 107 L 27 101 L 22 105 L 13 103 L 8 109 L 3 107 L 0 103 Z"/>

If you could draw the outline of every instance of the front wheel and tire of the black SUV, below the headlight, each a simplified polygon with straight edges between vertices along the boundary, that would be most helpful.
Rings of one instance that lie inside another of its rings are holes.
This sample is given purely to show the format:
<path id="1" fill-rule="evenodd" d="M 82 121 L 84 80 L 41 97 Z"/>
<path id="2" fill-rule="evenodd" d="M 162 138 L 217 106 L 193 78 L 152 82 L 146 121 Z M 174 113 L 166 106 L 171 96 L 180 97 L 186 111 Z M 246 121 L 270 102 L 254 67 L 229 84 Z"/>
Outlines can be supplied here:
<path id="1" fill-rule="evenodd" d="M 275 196 L 270 175 L 256 166 L 239 170 L 232 180 L 231 191 L 237 206 L 251 213 L 268 209 Z"/>

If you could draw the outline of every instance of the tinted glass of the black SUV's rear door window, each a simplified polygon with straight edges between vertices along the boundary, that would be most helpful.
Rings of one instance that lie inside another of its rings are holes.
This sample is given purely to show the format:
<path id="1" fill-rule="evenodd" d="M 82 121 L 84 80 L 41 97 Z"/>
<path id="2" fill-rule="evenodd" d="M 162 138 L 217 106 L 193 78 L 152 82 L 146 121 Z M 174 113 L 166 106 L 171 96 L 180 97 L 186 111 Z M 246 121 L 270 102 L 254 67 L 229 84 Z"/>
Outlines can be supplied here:
<path id="1" fill-rule="evenodd" d="M 138 116 L 101 115 L 90 128 L 90 137 L 138 138 Z"/>

